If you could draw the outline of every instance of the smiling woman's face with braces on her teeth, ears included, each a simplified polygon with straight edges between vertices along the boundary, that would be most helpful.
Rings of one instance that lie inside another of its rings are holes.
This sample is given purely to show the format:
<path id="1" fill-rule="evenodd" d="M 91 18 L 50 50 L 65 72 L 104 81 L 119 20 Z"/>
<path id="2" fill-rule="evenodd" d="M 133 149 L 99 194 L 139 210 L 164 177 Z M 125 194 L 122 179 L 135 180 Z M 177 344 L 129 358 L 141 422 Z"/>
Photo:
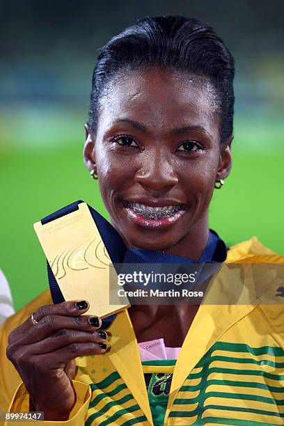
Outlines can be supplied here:
<path id="1" fill-rule="evenodd" d="M 207 238 L 214 183 L 231 164 L 217 105 L 211 84 L 180 72 L 136 70 L 108 86 L 84 158 L 127 246 L 187 255 Z"/>

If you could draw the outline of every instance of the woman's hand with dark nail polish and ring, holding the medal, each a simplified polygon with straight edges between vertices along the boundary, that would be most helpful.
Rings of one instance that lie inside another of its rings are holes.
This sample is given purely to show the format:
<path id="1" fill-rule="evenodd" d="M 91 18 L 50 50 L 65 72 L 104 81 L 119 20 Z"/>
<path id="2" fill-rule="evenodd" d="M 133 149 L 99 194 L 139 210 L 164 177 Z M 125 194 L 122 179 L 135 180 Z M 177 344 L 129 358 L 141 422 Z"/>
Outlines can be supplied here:
<path id="1" fill-rule="evenodd" d="M 81 315 L 86 301 L 42 306 L 11 331 L 7 357 L 30 395 L 30 409 L 44 411 L 45 420 L 68 420 L 74 406 L 72 387 L 77 356 L 102 354 L 107 333 L 99 317 Z"/>

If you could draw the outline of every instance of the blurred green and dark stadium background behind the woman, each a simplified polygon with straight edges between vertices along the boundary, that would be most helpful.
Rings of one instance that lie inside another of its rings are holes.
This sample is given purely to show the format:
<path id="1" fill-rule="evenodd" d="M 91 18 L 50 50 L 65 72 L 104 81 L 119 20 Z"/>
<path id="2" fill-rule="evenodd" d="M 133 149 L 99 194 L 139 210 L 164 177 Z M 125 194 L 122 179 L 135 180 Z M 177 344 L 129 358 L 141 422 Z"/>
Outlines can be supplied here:
<path id="1" fill-rule="evenodd" d="M 1 1 L 0 267 L 16 309 L 47 288 L 33 222 L 78 199 L 107 217 L 81 157 L 97 49 L 167 14 L 210 22 L 236 60 L 234 164 L 210 225 L 283 253 L 283 1 Z"/>

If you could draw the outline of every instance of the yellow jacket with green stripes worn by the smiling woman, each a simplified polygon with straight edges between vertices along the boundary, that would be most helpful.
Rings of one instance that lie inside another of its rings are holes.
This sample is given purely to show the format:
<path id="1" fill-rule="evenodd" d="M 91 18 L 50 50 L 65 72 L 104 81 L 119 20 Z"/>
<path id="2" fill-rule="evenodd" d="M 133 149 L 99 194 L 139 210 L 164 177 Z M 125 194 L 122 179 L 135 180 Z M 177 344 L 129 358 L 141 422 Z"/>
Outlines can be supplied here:
<path id="1" fill-rule="evenodd" d="M 230 248 L 226 263 L 233 262 L 283 264 L 284 256 L 253 237 Z M 49 303 L 46 290 L 0 329 L 0 411 L 29 411 L 29 394 L 6 358 L 8 334 Z M 160 372 L 173 373 L 164 425 L 284 425 L 283 305 L 201 305 L 175 365 L 142 365 L 127 310 L 107 331 L 109 352 L 76 359 L 69 420 L 39 423 L 154 425 L 144 373 Z"/>

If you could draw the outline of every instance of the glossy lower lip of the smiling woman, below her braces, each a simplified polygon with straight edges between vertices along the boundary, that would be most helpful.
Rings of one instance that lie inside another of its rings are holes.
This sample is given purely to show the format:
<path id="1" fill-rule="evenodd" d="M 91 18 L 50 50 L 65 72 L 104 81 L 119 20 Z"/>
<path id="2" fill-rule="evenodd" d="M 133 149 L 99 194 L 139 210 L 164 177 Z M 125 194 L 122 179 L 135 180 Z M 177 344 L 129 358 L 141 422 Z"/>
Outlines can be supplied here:
<path id="1" fill-rule="evenodd" d="M 127 215 L 129 216 L 136 225 L 141 226 L 143 228 L 152 228 L 152 229 L 164 229 L 168 228 L 169 226 L 172 226 L 174 223 L 176 223 L 180 217 L 186 212 L 184 208 L 178 210 L 177 212 L 171 214 L 167 217 L 162 217 L 159 219 L 150 219 L 142 214 L 139 214 L 138 212 L 135 212 L 131 207 L 125 206 L 125 211 L 127 212 Z"/>

